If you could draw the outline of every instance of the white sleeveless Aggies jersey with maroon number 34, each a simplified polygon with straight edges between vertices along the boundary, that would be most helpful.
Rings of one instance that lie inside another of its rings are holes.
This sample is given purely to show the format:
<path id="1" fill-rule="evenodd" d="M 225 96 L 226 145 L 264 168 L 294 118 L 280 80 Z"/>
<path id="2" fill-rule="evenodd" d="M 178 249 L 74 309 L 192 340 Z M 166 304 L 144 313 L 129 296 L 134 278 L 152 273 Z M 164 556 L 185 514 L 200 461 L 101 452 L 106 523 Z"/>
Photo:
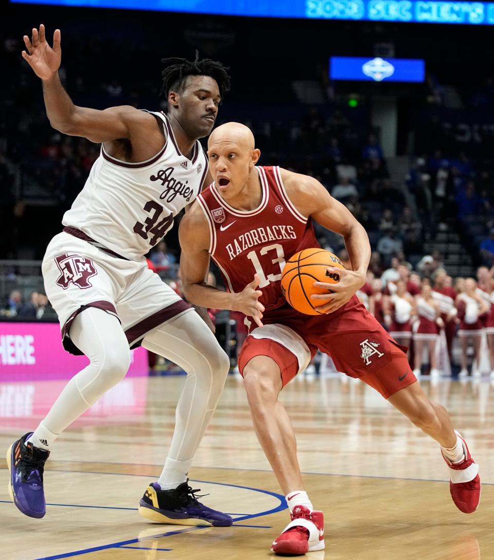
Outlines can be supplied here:
<path id="1" fill-rule="evenodd" d="M 131 260 L 142 260 L 170 230 L 176 214 L 201 191 L 208 169 L 199 141 L 189 160 L 179 151 L 168 117 L 149 112 L 163 122 L 160 152 L 131 164 L 109 156 L 101 144 L 84 188 L 62 220 Z"/>

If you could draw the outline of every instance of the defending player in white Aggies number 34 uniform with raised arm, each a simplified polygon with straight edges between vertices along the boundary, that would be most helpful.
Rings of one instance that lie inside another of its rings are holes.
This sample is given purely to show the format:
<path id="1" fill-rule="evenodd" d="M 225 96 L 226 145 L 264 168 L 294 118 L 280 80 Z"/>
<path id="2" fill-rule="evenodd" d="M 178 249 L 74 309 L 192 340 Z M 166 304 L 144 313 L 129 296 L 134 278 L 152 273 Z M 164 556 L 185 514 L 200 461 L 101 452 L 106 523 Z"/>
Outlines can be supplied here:
<path id="1" fill-rule="evenodd" d="M 226 68 L 197 57 L 164 59 L 167 115 L 131 106 L 98 111 L 75 106 L 60 83 L 59 30 L 53 48 L 43 25 L 24 42 L 22 56 L 43 82 L 52 127 L 102 146 L 82 192 L 64 214 L 63 232 L 50 241 L 43 259 L 46 295 L 59 316 L 63 345 L 86 354 L 90 364 L 68 382 L 34 433 L 8 450 L 11 497 L 25 515 L 45 515 L 43 467 L 55 440 L 123 379 L 130 348 L 142 344 L 188 376 L 169 456 L 139 512 L 166 523 L 231 525 L 230 516 L 197 501 L 187 478 L 229 360 L 197 312 L 147 268 L 144 257 L 197 197 L 208 175 L 198 138 L 208 136 L 215 124 L 230 85 Z"/>

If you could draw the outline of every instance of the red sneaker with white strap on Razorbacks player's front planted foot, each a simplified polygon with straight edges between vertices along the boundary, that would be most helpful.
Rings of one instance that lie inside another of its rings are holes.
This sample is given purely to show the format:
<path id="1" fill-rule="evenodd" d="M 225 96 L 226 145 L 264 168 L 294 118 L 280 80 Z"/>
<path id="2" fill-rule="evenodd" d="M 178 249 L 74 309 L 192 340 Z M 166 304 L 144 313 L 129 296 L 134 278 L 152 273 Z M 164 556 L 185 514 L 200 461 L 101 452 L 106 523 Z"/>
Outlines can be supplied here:
<path id="1" fill-rule="evenodd" d="M 322 511 L 310 511 L 305 506 L 295 506 L 292 520 L 283 533 L 273 541 L 275 554 L 305 554 L 324 548 L 324 515 Z"/>

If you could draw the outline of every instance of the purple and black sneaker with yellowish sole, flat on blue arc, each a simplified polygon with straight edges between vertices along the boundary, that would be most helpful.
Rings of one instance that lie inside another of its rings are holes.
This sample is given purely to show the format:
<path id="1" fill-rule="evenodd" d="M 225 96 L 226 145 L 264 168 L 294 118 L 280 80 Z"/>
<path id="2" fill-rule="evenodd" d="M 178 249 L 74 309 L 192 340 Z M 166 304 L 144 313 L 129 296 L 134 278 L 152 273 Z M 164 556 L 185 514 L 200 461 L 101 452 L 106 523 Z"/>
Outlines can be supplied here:
<path id="1" fill-rule="evenodd" d="M 187 482 L 173 490 L 162 490 L 157 482 L 151 482 L 139 502 L 139 514 L 150 521 L 172 525 L 212 525 L 229 527 L 232 517 L 212 510 L 198 502 L 195 492 Z"/>

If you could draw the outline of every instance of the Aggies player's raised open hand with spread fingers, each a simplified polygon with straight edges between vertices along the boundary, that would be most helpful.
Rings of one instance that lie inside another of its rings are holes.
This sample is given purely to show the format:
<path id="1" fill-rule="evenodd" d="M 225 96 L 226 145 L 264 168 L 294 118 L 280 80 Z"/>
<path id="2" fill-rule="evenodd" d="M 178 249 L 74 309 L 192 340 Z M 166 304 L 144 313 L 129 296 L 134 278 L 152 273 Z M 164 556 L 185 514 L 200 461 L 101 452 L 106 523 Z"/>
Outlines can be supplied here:
<path id="1" fill-rule="evenodd" d="M 62 49 L 60 49 L 60 30 L 55 29 L 53 34 L 53 48 L 45 38 L 45 26 L 39 26 L 39 32 L 32 29 L 31 40 L 24 35 L 24 44 L 27 52 L 22 51 L 22 58 L 27 60 L 29 66 L 34 70 L 36 76 L 41 80 L 49 80 L 60 68 L 62 60 Z"/>

